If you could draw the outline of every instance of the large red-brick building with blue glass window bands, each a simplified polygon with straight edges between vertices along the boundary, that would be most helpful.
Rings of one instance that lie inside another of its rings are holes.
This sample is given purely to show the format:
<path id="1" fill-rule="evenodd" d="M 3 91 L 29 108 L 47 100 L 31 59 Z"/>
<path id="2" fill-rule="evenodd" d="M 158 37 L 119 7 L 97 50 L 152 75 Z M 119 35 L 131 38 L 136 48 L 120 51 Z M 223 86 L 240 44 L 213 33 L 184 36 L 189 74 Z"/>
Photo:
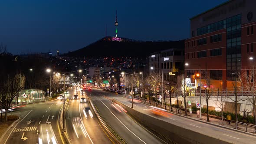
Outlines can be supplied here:
<path id="1" fill-rule="evenodd" d="M 213 87 L 232 87 L 237 72 L 248 69 L 253 62 L 249 57 L 256 56 L 255 5 L 255 0 L 229 0 L 190 19 L 185 76 L 201 68 L 210 75 Z"/>

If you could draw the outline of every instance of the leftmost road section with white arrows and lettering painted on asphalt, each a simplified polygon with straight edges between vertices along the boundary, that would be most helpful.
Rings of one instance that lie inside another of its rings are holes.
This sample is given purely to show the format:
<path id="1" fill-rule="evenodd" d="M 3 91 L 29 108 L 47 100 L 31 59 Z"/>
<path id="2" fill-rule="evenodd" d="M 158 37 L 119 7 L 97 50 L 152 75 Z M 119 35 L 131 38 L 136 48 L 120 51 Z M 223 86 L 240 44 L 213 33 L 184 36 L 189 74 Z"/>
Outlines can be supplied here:
<path id="1" fill-rule="evenodd" d="M 69 95 L 67 95 L 70 97 Z M 62 138 L 58 128 L 57 120 L 59 110 L 62 107 L 61 100 L 48 101 L 24 107 L 16 108 L 13 115 L 22 118 L 13 131 L 8 131 L 9 135 L 4 144 L 36 144 L 38 143 L 39 125 L 50 124 L 56 136 L 56 141 L 62 144 Z M 21 115 L 20 115 L 21 114 Z"/>

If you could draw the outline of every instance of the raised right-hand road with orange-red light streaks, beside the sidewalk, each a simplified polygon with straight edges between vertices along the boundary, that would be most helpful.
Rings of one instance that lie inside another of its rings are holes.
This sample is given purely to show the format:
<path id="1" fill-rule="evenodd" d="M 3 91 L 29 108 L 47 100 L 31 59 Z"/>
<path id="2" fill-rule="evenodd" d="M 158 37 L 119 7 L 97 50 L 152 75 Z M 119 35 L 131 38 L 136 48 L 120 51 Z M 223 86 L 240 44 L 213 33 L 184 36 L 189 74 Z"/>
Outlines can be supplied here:
<path id="1" fill-rule="evenodd" d="M 123 98 L 122 97 L 123 95 L 114 95 L 113 93 L 105 92 L 99 89 L 94 89 L 93 91 L 95 93 L 98 93 L 99 95 L 107 95 L 108 97 L 115 98 L 121 103 L 131 107 L 131 99 Z M 187 128 L 201 134 L 206 134 L 212 137 L 216 137 L 224 141 L 228 141 L 230 143 L 255 144 L 255 141 L 256 141 L 256 137 L 249 134 L 243 134 L 243 133 L 228 130 L 225 128 L 216 127 L 210 124 L 205 124 L 199 121 L 194 121 L 178 115 L 173 115 L 169 112 L 156 113 L 155 110 L 149 107 L 149 105 L 141 103 L 138 100 L 134 100 L 133 106 L 136 111 L 139 111 L 141 113 L 151 115 L 155 118 L 161 118 L 162 120 L 167 121 L 171 124 L 175 124 L 179 127 Z"/>

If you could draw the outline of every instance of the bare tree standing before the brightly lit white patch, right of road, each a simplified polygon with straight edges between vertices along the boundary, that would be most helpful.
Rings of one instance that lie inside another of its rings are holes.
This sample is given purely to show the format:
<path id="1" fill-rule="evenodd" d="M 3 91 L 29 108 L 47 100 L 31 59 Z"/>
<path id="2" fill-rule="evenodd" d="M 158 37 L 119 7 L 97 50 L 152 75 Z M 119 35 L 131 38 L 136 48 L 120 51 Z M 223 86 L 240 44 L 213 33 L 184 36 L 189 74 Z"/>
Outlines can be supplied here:
<path id="1" fill-rule="evenodd" d="M 184 98 L 185 115 L 187 115 L 186 97 L 189 94 L 190 81 L 186 80 L 184 75 L 177 76 L 177 93 Z M 178 101 L 177 101 L 178 104 Z"/>

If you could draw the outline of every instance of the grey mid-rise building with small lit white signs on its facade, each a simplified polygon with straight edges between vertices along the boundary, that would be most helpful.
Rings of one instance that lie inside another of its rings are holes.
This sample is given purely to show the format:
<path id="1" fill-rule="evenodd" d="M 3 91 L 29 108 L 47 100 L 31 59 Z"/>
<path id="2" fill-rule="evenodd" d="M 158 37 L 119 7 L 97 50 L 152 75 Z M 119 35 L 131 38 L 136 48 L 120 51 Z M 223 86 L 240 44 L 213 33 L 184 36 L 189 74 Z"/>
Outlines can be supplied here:
<path id="1" fill-rule="evenodd" d="M 169 72 L 181 74 L 184 70 L 184 48 L 171 48 L 155 52 L 148 56 L 148 71 L 163 72 L 164 80 Z"/>

